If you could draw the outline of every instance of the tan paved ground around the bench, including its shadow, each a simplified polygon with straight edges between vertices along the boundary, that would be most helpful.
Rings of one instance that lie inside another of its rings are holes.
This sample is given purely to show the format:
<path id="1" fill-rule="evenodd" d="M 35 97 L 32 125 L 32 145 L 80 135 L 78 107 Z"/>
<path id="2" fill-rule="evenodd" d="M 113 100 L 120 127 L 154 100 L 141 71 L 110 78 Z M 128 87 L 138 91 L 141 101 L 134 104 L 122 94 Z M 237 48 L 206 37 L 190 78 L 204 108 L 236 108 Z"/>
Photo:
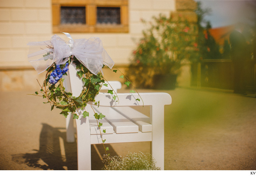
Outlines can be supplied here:
<path id="1" fill-rule="evenodd" d="M 154 90 L 142 90 L 154 91 Z M 166 170 L 256 170 L 256 98 L 177 88 L 165 91 Z M 65 141 L 65 118 L 31 92 L 0 93 L 0 169 L 76 170 L 76 143 Z M 141 111 L 148 113 L 147 107 Z M 111 155 L 149 152 L 149 142 L 109 144 Z M 92 145 L 100 170 L 101 145 Z"/>

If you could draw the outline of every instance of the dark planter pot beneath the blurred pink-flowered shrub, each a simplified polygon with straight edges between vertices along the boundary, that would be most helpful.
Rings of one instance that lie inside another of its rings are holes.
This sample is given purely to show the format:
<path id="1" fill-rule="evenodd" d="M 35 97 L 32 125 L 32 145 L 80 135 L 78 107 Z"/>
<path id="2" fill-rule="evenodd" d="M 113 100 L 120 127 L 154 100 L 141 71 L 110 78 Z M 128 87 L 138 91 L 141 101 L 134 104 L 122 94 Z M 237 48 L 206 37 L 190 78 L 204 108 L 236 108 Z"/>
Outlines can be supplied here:
<path id="1" fill-rule="evenodd" d="M 174 90 L 176 88 L 176 74 L 154 75 L 154 88 L 160 90 Z"/>

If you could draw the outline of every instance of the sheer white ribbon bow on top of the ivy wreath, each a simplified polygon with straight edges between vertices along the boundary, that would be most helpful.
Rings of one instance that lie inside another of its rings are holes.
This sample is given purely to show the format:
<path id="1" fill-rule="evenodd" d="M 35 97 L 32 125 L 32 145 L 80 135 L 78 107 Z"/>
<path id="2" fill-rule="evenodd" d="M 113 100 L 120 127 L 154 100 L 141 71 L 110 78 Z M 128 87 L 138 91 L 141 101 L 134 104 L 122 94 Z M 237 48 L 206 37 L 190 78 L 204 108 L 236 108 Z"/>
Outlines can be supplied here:
<path id="1" fill-rule="evenodd" d="M 73 40 L 70 34 L 64 34 L 71 39 L 69 42 L 56 34 L 52 36 L 51 41 L 28 42 L 28 61 L 38 73 L 44 72 L 53 62 L 56 65 L 65 64 L 72 55 L 95 75 L 100 71 L 103 73 L 103 64 L 112 69 L 114 61 L 104 50 L 99 38 Z"/>

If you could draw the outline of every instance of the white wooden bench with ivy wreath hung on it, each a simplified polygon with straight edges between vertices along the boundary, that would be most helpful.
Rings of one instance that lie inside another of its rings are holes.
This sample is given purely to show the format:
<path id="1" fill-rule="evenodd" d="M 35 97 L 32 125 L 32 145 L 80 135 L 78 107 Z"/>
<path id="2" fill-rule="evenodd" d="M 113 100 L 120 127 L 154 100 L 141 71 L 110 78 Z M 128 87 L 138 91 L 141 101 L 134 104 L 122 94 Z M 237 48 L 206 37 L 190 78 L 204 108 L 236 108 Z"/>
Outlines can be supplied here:
<path id="1" fill-rule="evenodd" d="M 115 91 L 121 88 L 120 82 L 114 81 L 110 84 Z M 69 65 L 64 86 L 73 96 L 79 96 L 82 91 L 83 83 L 76 76 L 73 65 Z M 102 89 L 110 88 L 102 86 Z M 102 133 L 102 138 L 106 139 L 105 143 L 150 141 L 151 154 L 156 160 L 156 166 L 164 170 L 164 105 L 172 103 L 171 96 L 167 93 L 140 93 L 144 106 L 150 106 L 150 117 L 129 107 L 142 106 L 142 101 L 136 100 L 140 98 L 137 93 L 117 93 L 119 102 L 113 100 L 113 96 L 99 93 L 95 100 L 100 101 L 100 106 L 92 105 L 95 112 L 106 116 L 99 120 L 103 124 L 100 127 L 101 133 L 106 129 L 106 133 Z M 78 170 L 91 170 L 91 144 L 101 144 L 102 140 L 91 104 L 88 103 L 86 106 L 89 117 L 83 118 L 82 111 L 76 111 L 79 118 L 75 120 L 77 165 Z M 72 114 L 66 119 L 66 129 L 67 142 L 75 142 Z"/>

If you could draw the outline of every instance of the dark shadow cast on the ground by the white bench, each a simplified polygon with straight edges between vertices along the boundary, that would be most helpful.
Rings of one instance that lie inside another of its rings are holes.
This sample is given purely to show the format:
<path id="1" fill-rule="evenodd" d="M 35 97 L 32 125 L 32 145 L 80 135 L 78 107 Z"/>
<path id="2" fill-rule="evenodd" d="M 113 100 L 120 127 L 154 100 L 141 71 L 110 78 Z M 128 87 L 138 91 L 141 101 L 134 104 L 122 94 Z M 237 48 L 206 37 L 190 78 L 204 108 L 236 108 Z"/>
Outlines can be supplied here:
<path id="1" fill-rule="evenodd" d="M 39 150 L 12 155 L 12 161 L 38 170 L 77 170 L 77 145 L 66 141 L 65 128 L 42 124 L 39 143 Z M 110 144 L 105 147 L 112 149 L 111 156 L 117 155 Z M 101 158 L 104 154 L 102 144 L 91 145 L 92 170 L 104 167 Z"/>

